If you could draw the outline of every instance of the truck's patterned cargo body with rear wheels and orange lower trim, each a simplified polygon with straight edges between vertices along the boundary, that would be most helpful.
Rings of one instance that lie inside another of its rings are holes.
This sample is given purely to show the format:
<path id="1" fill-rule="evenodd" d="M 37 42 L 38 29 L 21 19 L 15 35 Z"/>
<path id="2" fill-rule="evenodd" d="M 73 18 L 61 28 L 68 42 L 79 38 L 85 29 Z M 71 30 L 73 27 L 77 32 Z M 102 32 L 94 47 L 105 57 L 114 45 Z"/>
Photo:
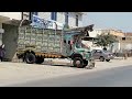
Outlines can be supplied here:
<path id="1" fill-rule="evenodd" d="M 44 58 L 61 58 L 62 40 L 59 30 L 20 26 L 16 55 L 28 64 L 41 64 Z"/>

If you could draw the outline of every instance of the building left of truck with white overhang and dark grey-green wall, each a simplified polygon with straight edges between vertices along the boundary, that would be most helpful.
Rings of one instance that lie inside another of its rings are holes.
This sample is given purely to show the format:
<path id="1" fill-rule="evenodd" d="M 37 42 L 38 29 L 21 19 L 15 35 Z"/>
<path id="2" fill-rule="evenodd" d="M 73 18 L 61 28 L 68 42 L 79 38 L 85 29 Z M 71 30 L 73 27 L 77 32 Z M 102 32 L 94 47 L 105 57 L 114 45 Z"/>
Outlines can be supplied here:
<path id="1" fill-rule="evenodd" d="M 12 58 L 16 48 L 18 26 L 15 20 L 22 19 L 22 12 L 0 12 L 0 45 L 6 45 L 6 58 Z"/>

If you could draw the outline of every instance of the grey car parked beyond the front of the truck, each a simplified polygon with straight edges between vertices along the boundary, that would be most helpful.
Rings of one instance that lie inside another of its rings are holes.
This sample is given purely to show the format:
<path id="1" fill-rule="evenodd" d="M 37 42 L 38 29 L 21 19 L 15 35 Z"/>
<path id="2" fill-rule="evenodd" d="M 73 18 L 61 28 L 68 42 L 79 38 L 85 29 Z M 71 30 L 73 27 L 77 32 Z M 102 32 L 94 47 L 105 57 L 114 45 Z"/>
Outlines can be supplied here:
<path id="1" fill-rule="evenodd" d="M 114 55 L 108 51 L 103 50 L 92 50 L 92 57 L 95 59 L 100 59 L 101 62 L 110 62 L 110 59 L 114 58 Z"/>

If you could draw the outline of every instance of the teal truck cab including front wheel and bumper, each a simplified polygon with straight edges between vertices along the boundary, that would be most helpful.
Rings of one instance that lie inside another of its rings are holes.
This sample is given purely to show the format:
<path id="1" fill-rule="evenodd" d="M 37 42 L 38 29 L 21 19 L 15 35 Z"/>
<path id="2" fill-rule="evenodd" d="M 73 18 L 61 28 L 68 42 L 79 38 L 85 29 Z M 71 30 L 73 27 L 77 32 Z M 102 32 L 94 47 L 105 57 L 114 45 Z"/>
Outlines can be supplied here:
<path id="1" fill-rule="evenodd" d="M 68 31 L 64 33 L 65 56 L 72 58 L 73 65 L 80 68 L 86 67 L 88 64 L 92 64 L 92 66 L 95 64 L 90 48 L 82 44 L 85 36 L 86 33 L 84 31 Z"/>

